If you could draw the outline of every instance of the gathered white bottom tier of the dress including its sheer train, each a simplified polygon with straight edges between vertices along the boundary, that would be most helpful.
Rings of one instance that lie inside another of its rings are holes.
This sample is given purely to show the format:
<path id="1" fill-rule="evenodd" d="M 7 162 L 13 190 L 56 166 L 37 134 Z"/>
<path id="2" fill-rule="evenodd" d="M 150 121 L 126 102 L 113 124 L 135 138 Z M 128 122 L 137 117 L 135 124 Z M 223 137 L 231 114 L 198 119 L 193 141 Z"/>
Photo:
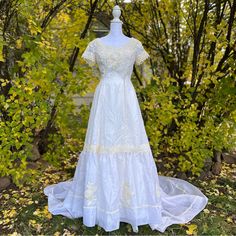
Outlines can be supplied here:
<path id="1" fill-rule="evenodd" d="M 48 210 L 53 215 L 83 217 L 88 227 L 117 230 L 120 222 L 149 224 L 164 232 L 171 224 L 186 223 L 207 204 L 192 184 L 158 176 L 150 153 L 96 154 L 82 151 L 74 177 L 49 185 Z"/>

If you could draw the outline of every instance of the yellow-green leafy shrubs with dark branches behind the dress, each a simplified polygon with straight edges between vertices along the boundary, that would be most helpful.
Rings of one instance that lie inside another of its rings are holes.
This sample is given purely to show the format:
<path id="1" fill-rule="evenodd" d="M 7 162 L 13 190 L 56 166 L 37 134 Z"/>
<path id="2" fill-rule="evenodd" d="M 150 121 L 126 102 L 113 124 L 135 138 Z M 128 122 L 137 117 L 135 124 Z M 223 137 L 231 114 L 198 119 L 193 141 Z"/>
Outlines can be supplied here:
<path id="1" fill-rule="evenodd" d="M 92 23 L 109 27 L 114 4 L 0 1 L 0 176 L 34 181 L 34 156 L 59 166 L 82 150 L 90 107 L 75 111 L 73 96 L 98 77 L 80 55 Z M 123 32 L 151 56 L 132 81 L 154 157 L 199 175 L 236 141 L 236 0 L 119 4 Z"/>

